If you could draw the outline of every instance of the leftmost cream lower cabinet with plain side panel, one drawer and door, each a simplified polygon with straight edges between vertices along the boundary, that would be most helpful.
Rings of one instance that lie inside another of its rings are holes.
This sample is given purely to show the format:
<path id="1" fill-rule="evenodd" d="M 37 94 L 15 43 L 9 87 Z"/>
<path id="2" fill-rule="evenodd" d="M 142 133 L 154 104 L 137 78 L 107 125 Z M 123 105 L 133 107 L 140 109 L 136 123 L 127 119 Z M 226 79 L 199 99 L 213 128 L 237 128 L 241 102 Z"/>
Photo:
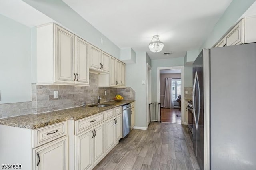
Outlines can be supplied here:
<path id="1" fill-rule="evenodd" d="M 0 125 L 0 134 L 0 164 L 18 164 L 22 170 L 68 170 L 66 121 L 37 129 Z"/>

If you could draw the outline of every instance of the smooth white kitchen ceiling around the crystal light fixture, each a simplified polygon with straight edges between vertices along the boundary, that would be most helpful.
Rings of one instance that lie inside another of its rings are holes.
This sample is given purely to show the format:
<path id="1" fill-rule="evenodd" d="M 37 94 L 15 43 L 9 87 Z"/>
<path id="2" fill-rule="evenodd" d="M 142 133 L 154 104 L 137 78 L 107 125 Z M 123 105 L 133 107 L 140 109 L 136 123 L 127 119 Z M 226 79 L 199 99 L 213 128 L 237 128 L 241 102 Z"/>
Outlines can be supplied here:
<path id="1" fill-rule="evenodd" d="M 146 51 L 151 59 L 184 57 L 197 50 L 232 0 L 63 0 L 120 48 Z M 158 34 L 164 49 L 148 43 Z M 163 55 L 164 52 L 172 55 Z"/>

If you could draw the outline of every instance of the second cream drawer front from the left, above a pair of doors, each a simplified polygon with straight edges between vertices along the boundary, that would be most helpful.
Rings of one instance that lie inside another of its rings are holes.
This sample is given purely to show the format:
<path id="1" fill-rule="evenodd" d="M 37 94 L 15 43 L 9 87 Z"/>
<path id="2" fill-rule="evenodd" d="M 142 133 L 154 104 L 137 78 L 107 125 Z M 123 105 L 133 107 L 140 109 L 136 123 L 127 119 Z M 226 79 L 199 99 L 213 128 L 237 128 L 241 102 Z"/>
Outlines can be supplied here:
<path id="1" fill-rule="evenodd" d="M 76 132 L 75 134 L 80 133 L 82 130 L 85 130 L 86 128 L 96 125 L 97 123 L 100 123 L 101 121 L 104 120 L 104 113 L 99 113 L 97 115 L 93 115 L 90 117 L 86 117 L 84 119 L 80 119 L 76 121 Z"/>

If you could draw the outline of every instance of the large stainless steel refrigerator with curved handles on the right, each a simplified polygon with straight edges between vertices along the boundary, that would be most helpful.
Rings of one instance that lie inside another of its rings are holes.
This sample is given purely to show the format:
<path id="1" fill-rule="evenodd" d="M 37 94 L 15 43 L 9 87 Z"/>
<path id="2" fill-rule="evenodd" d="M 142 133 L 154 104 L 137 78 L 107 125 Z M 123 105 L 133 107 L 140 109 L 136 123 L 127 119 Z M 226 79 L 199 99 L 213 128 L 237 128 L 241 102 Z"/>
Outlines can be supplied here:
<path id="1" fill-rule="evenodd" d="M 203 49 L 193 63 L 193 148 L 201 169 L 256 168 L 256 43 Z"/>

